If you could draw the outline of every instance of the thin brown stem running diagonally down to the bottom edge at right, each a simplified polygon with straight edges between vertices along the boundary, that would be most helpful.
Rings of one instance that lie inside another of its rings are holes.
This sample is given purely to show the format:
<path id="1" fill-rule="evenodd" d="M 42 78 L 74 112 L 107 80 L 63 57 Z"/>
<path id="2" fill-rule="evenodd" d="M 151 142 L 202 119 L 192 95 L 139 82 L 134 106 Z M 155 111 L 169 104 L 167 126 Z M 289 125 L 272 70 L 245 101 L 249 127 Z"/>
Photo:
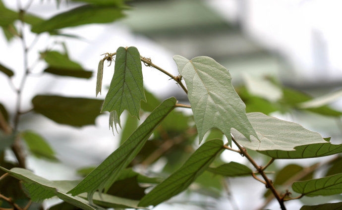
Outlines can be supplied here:
<path id="1" fill-rule="evenodd" d="M 239 145 L 237 143 L 237 141 L 234 139 L 233 136 L 231 136 L 231 140 L 234 142 L 234 144 L 239 148 L 239 150 L 241 151 L 241 154 L 246 157 L 250 163 L 252 163 L 252 165 L 258 170 L 258 172 L 260 173 L 260 175 L 264 178 L 265 182 L 266 182 L 266 188 L 269 188 L 273 195 L 276 197 L 280 207 L 282 210 L 286 210 L 285 205 L 284 205 L 284 201 L 282 200 L 281 196 L 279 195 L 279 193 L 277 192 L 276 188 L 274 187 L 272 180 L 270 180 L 267 175 L 265 174 L 265 172 L 262 170 L 262 167 L 259 166 L 252 157 L 249 156 L 249 154 L 247 153 L 247 150 L 245 148 L 243 148 L 241 145 Z"/>

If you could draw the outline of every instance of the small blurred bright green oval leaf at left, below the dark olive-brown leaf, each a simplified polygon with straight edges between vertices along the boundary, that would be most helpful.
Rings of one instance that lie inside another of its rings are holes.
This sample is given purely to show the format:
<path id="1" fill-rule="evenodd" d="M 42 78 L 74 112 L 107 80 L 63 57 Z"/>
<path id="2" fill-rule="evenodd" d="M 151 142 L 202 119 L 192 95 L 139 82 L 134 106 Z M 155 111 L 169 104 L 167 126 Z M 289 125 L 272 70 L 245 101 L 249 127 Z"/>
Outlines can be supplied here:
<path id="1" fill-rule="evenodd" d="M 24 131 L 21 136 L 25 140 L 30 152 L 36 157 L 44 157 L 51 160 L 57 160 L 55 151 L 50 147 L 47 141 L 39 134 L 33 131 Z"/>

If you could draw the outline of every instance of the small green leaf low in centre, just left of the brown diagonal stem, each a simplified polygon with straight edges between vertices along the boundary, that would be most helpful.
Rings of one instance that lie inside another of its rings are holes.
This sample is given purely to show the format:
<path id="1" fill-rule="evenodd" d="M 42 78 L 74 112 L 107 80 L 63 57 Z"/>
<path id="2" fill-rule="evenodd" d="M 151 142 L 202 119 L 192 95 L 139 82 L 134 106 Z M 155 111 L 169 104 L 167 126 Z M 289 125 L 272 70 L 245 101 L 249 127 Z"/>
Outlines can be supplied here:
<path id="1" fill-rule="evenodd" d="M 220 174 L 228 177 L 235 176 L 249 176 L 253 173 L 253 171 L 247 166 L 237 163 L 237 162 L 229 162 L 223 165 L 220 165 L 216 168 L 208 168 L 208 171 L 214 174 Z"/>

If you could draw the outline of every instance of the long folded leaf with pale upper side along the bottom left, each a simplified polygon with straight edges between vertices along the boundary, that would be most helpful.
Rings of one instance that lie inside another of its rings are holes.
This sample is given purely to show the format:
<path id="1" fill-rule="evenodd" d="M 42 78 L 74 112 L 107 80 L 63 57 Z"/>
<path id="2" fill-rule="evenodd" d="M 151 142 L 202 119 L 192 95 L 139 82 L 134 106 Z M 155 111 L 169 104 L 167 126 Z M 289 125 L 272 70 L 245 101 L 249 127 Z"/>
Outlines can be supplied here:
<path id="1" fill-rule="evenodd" d="M 51 181 L 43 177 L 33 174 L 31 171 L 24 168 L 12 168 L 7 170 L 0 167 L 1 170 L 9 173 L 11 176 L 21 180 L 25 187 L 25 190 L 32 201 L 42 202 L 45 199 L 57 196 L 61 200 L 78 207 L 82 210 L 98 210 L 99 207 L 94 207 L 85 200 L 86 194 L 80 196 L 71 196 L 66 194 L 66 192 L 72 189 L 76 184 L 76 181 Z M 118 198 L 111 195 L 103 194 L 100 198 L 99 194 L 95 194 L 94 203 L 96 204 L 106 204 L 105 207 L 112 208 L 133 208 L 138 209 L 137 201 Z"/>

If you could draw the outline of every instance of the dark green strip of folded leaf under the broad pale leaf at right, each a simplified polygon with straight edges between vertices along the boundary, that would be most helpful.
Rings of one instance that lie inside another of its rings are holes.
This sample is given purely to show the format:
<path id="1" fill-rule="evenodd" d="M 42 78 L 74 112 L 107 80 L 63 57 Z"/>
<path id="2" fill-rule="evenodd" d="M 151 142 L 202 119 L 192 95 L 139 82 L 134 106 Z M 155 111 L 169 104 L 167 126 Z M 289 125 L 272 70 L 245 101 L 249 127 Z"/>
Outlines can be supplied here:
<path id="1" fill-rule="evenodd" d="M 294 150 L 295 151 L 266 150 L 258 152 L 273 157 L 275 159 L 324 157 L 342 153 L 342 144 L 333 145 L 330 142 L 317 143 L 297 146 L 294 147 Z"/>

